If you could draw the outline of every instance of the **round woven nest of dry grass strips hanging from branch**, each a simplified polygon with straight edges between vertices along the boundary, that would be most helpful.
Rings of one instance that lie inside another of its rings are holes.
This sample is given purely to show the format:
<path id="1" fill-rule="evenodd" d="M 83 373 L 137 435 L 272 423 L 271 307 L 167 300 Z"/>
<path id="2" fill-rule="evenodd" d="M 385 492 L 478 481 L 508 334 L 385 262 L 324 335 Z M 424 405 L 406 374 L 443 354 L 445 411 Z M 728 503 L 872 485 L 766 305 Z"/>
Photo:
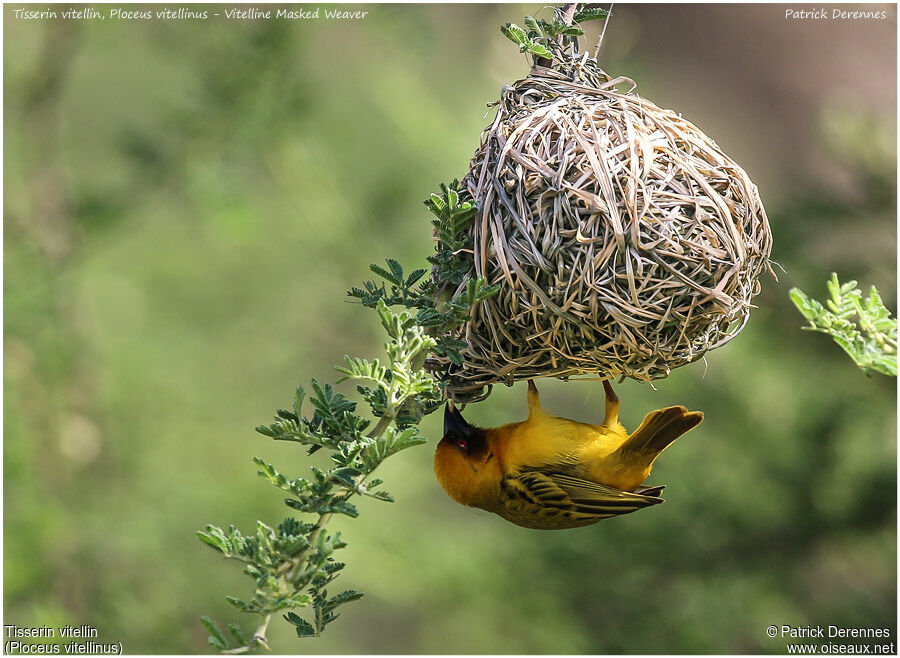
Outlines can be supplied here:
<path id="1" fill-rule="evenodd" d="M 561 68 L 504 88 L 463 180 L 471 274 L 501 288 L 447 371 L 461 401 L 533 377 L 666 377 L 743 329 L 770 269 L 737 163 L 593 59 Z"/>

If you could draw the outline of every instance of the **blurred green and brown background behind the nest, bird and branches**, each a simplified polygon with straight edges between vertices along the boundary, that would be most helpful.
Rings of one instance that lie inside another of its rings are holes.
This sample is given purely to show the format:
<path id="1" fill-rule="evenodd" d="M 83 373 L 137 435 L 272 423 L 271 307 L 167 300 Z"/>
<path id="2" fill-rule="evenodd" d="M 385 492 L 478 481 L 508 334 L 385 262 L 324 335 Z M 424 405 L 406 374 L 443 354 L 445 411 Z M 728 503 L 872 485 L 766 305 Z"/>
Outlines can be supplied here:
<path id="1" fill-rule="evenodd" d="M 358 8 L 79 23 L 4 7 L 5 623 L 90 624 L 142 653 L 206 651 L 202 614 L 253 627 L 223 598 L 251 581 L 194 533 L 287 514 L 251 457 L 299 475 L 304 454 L 253 427 L 345 353 L 380 353 L 345 291 L 385 256 L 423 262 L 421 200 L 464 174 L 486 103 L 528 70 L 498 26 L 549 16 Z M 784 270 L 726 348 L 618 386 L 629 428 L 706 412 L 657 464 L 666 504 L 529 531 L 453 503 L 433 444 L 402 453 L 380 473 L 397 502 L 334 522 L 340 585 L 366 597 L 319 640 L 276 620 L 276 652 L 755 653 L 784 651 L 770 624 L 895 629 L 896 382 L 801 331 L 787 296 L 821 299 L 836 271 L 896 310 L 896 5 L 865 8 L 887 18 L 614 10 L 604 67 L 745 166 Z M 599 383 L 541 387 L 560 415 L 602 413 Z M 523 389 L 470 420 L 523 417 Z"/>

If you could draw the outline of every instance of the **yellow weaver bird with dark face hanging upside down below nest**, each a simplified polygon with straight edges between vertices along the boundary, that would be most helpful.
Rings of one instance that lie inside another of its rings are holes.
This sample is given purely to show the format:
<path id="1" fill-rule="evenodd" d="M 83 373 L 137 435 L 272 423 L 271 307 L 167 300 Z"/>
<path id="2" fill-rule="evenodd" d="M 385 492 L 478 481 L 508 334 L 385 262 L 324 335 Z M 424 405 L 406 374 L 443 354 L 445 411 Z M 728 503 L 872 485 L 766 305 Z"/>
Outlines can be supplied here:
<path id="1" fill-rule="evenodd" d="M 525 528 L 577 528 L 663 502 L 663 486 L 641 487 L 653 462 L 703 413 L 667 407 L 647 414 L 633 434 L 619 423 L 609 382 L 606 418 L 588 425 L 550 416 L 528 382 L 528 419 L 484 429 L 444 410 L 434 470 L 456 502 L 499 514 Z"/>

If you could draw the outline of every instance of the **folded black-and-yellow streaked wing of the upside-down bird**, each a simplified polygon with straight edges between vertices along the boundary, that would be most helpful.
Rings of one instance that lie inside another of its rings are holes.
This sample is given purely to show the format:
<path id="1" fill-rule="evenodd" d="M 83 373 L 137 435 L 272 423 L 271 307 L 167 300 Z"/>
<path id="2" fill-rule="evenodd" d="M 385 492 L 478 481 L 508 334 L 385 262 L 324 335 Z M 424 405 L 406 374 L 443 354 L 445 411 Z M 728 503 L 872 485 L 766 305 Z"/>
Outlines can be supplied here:
<path id="1" fill-rule="evenodd" d="M 663 502 L 659 487 L 629 493 L 562 473 L 529 470 L 500 483 L 507 518 L 529 527 L 577 527 Z M 647 495 L 649 494 L 649 495 Z M 514 517 L 514 518 L 513 518 Z"/>

